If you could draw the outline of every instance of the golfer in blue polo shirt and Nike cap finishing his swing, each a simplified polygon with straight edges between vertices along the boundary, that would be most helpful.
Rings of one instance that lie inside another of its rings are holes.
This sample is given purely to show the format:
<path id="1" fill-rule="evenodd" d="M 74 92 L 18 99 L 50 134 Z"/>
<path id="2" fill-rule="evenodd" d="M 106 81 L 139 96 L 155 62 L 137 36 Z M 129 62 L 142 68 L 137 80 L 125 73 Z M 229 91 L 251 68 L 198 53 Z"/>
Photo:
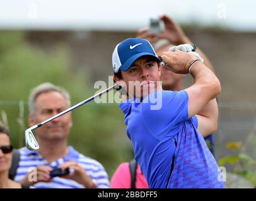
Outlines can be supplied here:
<path id="1" fill-rule="evenodd" d="M 113 52 L 113 79 L 125 90 L 120 108 L 135 159 L 149 188 L 224 188 L 202 137 L 218 128 L 221 85 L 199 55 L 173 50 L 161 55 L 165 68 L 194 79 L 178 92 L 161 88 L 161 60 L 149 41 L 128 38 Z"/>

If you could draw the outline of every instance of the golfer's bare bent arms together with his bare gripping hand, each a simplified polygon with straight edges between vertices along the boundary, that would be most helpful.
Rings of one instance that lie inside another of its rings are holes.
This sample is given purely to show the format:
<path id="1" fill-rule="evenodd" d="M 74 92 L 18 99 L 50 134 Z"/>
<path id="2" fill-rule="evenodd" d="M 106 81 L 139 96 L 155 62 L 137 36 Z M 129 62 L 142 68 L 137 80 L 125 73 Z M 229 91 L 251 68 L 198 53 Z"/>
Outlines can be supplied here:
<path id="1" fill-rule="evenodd" d="M 197 62 L 189 69 L 190 62 L 197 60 L 190 53 L 175 51 L 165 52 L 162 56 L 169 70 L 178 73 L 190 72 L 194 84 L 185 89 L 189 95 L 189 117 L 197 114 L 198 129 L 203 136 L 217 129 L 218 106 L 215 97 L 221 92 L 221 84 L 216 75 L 202 62 Z"/>

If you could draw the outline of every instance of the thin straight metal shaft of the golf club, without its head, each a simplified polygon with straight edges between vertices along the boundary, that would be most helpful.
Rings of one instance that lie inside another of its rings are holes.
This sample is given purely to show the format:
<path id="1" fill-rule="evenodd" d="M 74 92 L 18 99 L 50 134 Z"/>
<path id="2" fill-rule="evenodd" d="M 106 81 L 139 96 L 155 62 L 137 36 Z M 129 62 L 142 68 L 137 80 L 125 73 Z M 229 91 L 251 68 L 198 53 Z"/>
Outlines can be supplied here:
<path id="1" fill-rule="evenodd" d="M 73 111 L 73 109 L 76 109 L 77 107 L 79 106 L 82 106 L 83 104 L 86 104 L 87 102 L 90 102 L 91 100 L 94 100 L 96 99 L 97 97 L 100 97 L 100 95 L 103 95 L 103 94 L 106 94 L 107 92 L 110 92 L 110 90 L 113 90 L 115 89 L 115 87 L 117 87 L 118 85 L 117 84 L 114 84 L 112 87 L 109 87 L 108 89 L 105 89 L 103 90 L 102 92 L 99 92 L 98 94 L 95 94 L 93 95 L 92 97 L 86 99 L 86 100 L 83 100 L 82 102 L 79 102 L 78 104 L 72 106 L 72 107 L 69 107 L 68 109 L 66 109 L 65 111 L 62 111 L 60 112 L 59 114 L 56 114 L 55 116 L 53 117 L 50 117 L 49 119 L 46 119 L 45 121 L 43 122 L 40 122 L 39 124 L 35 125 L 35 126 L 32 126 L 31 129 L 35 129 L 35 128 L 38 128 L 44 124 L 46 124 L 47 122 L 49 121 L 52 121 L 54 119 L 56 119 L 57 117 L 59 116 L 62 116 L 63 114 L 66 114 L 67 112 L 70 112 L 70 111 Z"/>

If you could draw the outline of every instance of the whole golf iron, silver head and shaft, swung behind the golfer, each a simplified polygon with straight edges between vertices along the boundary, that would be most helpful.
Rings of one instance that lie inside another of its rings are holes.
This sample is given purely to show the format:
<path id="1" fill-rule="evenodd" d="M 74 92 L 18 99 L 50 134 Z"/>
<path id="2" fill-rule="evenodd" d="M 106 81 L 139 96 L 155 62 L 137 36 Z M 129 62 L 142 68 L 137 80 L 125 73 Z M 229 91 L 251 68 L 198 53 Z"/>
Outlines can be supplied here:
<path id="1" fill-rule="evenodd" d="M 39 128 L 40 126 L 46 124 L 49 121 L 52 121 L 53 119 L 56 119 L 57 117 L 62 116 L 63 114 L 66 114 L 67 112 L 73 111 L 73 109 L 76 109 L 77 107 L 82 106 L 83 104 L 86 104 L 86 103 L 90 102 L 91 100 L 94 100 L 97 97 L 100 97 L 101 95 L 106 94 L 107 92 L 110 92 L 110 90 L 119 89 L 119 88 L 120 88 L 120 86 L 118 84 L 114 84 L 112 87 L 109 87 L 108 89 L 105 89 L 102 92 L 99 92 L 98 94 L 95 94 L 92 97 L 90 97 L 86 100 L 83 100 L 82 102 L 79 102 L 78 104 L 76 104 L 72 107 L 69 107 L 65 111 L 62 111 L 59 114 L 56 114 L 55 116 L 50 117 L 49 119 L 46 119 L 45 121 L 40 122 L 39 124 L 36 124 L 28 129 L 26 129 L 26 131 L 25 131 L 26 148 L 28 148 L 30 151 L 39 149 L 37 140 L 35 139 L 35 136 L 32 133 L 33 129 Z"/>

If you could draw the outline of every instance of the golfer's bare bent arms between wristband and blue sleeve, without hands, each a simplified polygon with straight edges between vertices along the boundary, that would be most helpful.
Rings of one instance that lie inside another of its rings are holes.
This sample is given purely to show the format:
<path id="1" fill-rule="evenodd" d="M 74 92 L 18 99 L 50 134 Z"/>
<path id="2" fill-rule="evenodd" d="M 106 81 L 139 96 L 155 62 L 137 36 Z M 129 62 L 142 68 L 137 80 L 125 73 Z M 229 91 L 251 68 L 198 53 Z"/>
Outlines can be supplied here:
<path id="1" fill-rule="evenodd" d="M 198 129 L 207 136 L 218 129 L 218 105 L 216 96 L 221 84 L 216 75 L 202 63 L 196 63 L 190 70 L 195 83 L 185 89 L 189 94 L 189 116 L 196 114 Z"/>

